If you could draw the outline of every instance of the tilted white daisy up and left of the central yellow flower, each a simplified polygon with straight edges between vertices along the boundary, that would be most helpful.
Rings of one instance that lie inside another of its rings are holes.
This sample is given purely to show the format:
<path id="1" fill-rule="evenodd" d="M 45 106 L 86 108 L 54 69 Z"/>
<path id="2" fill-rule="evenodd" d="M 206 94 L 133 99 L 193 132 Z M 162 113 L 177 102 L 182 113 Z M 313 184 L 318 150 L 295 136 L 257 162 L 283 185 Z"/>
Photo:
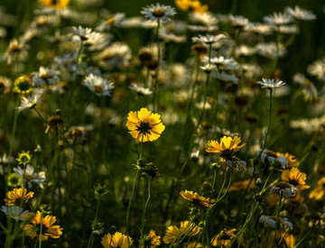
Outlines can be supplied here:
<path id="1" fill-rule="evenodd" d="M 105 78 L 93 74 L 84 79 L 84 85 L 88 87 L 97 96 L 111 96 L 114 84 Z"/>

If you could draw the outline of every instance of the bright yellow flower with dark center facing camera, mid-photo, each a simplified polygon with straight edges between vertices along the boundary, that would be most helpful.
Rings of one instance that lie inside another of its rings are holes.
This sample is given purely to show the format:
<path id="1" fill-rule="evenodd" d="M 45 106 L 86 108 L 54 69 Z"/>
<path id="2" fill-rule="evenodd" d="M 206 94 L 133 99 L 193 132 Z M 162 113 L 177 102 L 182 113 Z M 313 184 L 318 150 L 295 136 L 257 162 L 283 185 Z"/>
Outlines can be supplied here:
<path id="1" fill-rule="evenodd" d="M 153 114 L 145 107 L 137 112 L 131 111 L 127 116 L 126 126 L 132 137 L 140 142 L 157 140 L 165 129 L 160 115 Z"/>

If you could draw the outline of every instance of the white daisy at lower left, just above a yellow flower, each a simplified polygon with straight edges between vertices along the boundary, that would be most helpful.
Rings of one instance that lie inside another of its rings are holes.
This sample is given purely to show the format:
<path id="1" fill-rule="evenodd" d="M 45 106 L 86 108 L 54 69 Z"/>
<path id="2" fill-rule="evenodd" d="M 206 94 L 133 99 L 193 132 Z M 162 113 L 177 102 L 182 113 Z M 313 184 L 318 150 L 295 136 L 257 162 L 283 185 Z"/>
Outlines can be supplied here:
<path id="1" fill-rule="evenodd" d="M 32 188 L 32 183 L 38 184 L 40 188 L 43 188 L 43 184 L 45 181 L 45 172 L 35 172 L 34 168 L 27 164 L 26 170 L 23 170 L 20 166 L 14 167 L 14 172 L 22 178 L 27 184 L 29 188 Z"/>

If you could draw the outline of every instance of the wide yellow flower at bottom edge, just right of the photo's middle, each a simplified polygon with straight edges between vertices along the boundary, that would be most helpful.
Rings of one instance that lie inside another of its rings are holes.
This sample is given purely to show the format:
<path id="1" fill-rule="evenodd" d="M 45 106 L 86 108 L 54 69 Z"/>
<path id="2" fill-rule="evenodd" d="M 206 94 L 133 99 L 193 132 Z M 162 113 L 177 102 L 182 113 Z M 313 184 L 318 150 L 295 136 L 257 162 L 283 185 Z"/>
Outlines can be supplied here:
<path id="1" fill-rule="evenodd" d="M 194 236 L 200 233 L 200 227 L 195 225 L 194 223 L 190 223 L 189 221 L 182 221 L 180 228 L 176 225 L 170 225 L 167 227 L 166 234 L 163 236 L 164 243 L 172 243 L 179 235 L 179 240 L 183 236 Z"/>

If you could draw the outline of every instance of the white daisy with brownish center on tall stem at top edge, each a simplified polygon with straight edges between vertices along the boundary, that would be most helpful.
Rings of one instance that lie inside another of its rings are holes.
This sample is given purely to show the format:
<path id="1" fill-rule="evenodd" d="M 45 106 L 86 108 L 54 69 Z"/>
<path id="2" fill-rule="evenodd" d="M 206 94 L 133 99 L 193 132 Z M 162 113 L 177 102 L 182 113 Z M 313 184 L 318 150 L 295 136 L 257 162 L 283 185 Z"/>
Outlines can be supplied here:
<path id="1" fill-rule="evenodd" d="M 172 6 L 161 5 L 159 3 L 156 5 L 146 6 L 140 13 L 144 14 L 145 17 L 150 20 L 163 20 L 163 22 L 176 14 L 175 9 Z"/>

